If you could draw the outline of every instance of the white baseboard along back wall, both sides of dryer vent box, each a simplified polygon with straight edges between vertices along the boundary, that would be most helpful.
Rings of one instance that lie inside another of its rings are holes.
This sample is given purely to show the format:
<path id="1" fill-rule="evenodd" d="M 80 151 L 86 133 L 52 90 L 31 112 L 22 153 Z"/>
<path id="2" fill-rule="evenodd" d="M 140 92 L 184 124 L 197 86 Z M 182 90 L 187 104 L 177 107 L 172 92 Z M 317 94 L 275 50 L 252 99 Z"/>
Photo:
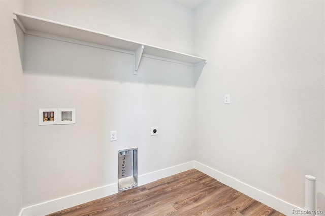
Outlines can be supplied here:
<path id="1" fill-rule="evenodd" d="M 156 181 L 161 178 L 165 178 L 180 172 L 187 171 L 189 169 L 193 169 L 194 162 L 190 161 L 187 163 L 179 164 L 173 167 L 169 167 L 166 169 L 161 169 L 158 171 L 150 172 L 144 175 L 138 176 L 138 186 L 144 185 L 153 181 Z M 34 215 L 45 215 L 50 214 L 56 211 L 60 211 L 66 208 L 70 208 L 76 205 L 83 204 L 85 202 L 89 202 L 95 199 L 100 199 L 105 196 L 109 196 L 117 193 L 117 183 L 113 183 L 110 185 L 106 185 L 99 188 L 94 188 L 88 191 L 83 191 L 80 193 L 72 194 L 65 197 L 60 197 L 58 199 L 50 200 L 47 202 L 43 202 L 37 205 L 29 206 L 23 208 L 20 216 L 34 216 Z"/>

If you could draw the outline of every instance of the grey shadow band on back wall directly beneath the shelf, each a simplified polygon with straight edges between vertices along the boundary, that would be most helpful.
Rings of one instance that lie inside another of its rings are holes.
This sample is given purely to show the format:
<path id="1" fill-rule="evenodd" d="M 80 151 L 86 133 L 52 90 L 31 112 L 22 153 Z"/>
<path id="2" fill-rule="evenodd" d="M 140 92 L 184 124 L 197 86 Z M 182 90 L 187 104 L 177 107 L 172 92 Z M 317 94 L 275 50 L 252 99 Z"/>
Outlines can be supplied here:
<path id="1" fill-rule="evenodd" d="M 194 87 L 194 67 L 133 54 L 25 35 L 24 73 Z"/>

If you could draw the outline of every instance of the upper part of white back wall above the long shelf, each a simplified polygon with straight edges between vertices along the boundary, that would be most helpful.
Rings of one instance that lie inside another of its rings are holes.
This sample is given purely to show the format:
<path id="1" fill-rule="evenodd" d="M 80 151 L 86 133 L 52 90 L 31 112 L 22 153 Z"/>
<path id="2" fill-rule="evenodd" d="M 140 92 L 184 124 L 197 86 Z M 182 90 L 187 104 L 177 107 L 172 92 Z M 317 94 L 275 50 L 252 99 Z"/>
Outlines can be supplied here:
<path id="1" fill-rule="evenodd" d="M 26 13 L 192 54 L 193 11 L 174 0 L 25 0 Z"/>

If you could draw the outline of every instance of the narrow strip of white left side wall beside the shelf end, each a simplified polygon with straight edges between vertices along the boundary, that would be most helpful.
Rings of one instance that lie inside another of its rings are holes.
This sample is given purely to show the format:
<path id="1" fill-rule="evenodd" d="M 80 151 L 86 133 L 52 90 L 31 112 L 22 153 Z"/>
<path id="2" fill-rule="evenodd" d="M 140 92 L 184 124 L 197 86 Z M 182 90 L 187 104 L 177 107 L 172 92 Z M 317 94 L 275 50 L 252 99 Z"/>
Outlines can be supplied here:
<path id="1" fill-rule="evenodd" d="M 0 1 L 0 215 L 9 216 L 22 208 L 23 75 L 12 12 L 23 8 L 23 1 Z"/>

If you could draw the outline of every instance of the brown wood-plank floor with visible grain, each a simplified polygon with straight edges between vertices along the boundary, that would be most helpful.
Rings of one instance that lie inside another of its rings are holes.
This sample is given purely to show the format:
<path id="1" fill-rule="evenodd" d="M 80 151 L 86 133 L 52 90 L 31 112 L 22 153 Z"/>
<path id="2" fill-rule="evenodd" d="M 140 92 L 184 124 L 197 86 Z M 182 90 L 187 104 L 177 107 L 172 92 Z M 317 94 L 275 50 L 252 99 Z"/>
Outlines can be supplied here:
<path id="1" fill-rule="evenodd" d="M 85 215 L 284 215 L 191 169 L 53 214 Z"/>

